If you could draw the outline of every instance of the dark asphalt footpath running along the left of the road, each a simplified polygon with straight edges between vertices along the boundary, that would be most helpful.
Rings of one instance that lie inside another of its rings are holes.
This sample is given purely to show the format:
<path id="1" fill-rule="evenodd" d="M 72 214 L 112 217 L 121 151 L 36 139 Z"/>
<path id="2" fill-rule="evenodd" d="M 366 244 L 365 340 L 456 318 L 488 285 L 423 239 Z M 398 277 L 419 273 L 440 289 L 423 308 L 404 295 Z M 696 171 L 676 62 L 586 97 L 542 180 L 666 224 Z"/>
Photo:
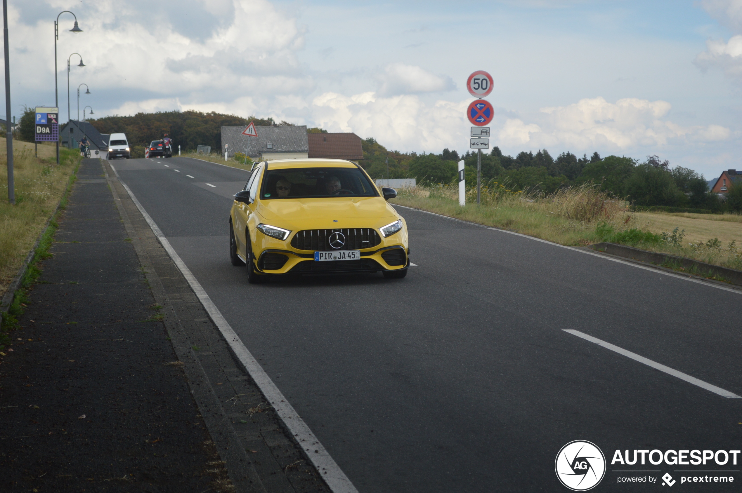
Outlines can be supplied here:
<path id="1" fill-rule="evenodd" d="M 78 178 L 0 364 L 0 491 L 326 491 L 275 416 L 255 411 L 260 395 L 211 322 L 197 319 L 211 334 L 201 347 L 173 328 L 119 214 L 120 185 L 98 159 Z M 227 407 L 236 394 L 249 398 Z"/>

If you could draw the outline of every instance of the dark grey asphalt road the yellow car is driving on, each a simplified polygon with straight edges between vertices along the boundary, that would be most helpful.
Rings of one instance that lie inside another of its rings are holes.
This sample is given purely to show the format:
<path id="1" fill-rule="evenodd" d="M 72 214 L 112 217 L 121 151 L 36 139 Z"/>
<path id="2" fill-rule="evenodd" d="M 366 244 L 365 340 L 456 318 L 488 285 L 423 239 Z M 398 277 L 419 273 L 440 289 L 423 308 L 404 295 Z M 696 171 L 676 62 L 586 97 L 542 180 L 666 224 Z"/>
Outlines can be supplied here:
<path id="1" fill-rule="evenodd" d="M 249 173 L 112 164 L 360 492 L 561 491 L 572 440 L 627 491 L 614 470 L 680 466 L 611 467 L 617 449 L 739 448 L 741 291 L 406 208 L 405 279 L 249 285 L 227 236 Z"/>

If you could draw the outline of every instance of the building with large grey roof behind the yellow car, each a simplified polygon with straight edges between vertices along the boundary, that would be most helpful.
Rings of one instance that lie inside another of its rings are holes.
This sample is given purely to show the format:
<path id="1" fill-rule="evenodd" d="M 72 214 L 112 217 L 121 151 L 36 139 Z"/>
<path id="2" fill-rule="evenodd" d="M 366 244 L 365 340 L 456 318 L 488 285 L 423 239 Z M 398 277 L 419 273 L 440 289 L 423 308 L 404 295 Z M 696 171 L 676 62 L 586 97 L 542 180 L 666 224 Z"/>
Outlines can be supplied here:
<path id="1" fill-rule="evenodd" d="M 306 125 L 255 127 L 257 137 L 242 135 L 244 127 L 222 127 L 222 153 L 246 153 L 253 161 L 306 159 Z"/>

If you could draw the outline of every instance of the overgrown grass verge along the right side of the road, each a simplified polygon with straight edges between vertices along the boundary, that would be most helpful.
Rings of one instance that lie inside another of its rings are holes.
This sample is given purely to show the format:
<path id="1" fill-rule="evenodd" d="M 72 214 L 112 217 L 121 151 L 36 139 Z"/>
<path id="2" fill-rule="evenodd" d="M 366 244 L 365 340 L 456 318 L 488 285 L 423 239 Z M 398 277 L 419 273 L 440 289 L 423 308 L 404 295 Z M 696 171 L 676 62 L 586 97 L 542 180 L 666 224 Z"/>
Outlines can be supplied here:
<path id="1" fill-rule="evenodd" d="M 646 224 L 648 213 L 634 213 L 628 202 L 598 191 L 592 185 L 565 188 L 544 195 L 510 191 L 506 184 L 493 183 L 482 188 L 482 203 L 479 205 L 476 204 L 476 189 L 467 189 L 467 205 L 464 207 L 459 205 L 458 196 L 458 184 L 418 185 L 416 188 L 401 188 L 397 198 L 390 202 L 516 231 L 559 245 L 620 243 L 742 270 L 742 247 L 738 242 L 735 239 L 723 242 L 719 235 L 710 237 L 713 231 L 720 231 L 713 229 L 716 225 L 725 234 L 726 228 L 732 228 L 730 234 L 739 233 L 742 238 L 742 223 L 737 220 L 742 216 L 719 215 L 709 219 L 709 215 L 703 214 L 703 219 L 697 219 L 695 216 L 700 214 L 662 214 L 666 219 L 662 223 L 664 230 L 653 231 L 656 228 L 649 228 Z M 693 221 L 703 222 L 703 227 L 699 222 L 698 238 L 692 236 L 695 241 L 688 241 L 690 238 L 686 239 L 686 236 L 689 235 L 677 223 L 688 222 L 690 228 Z M 674 228 L 672 224 L 676 224 Z M 700 239 L 703 234 L 708 238 L 706 241 Z"/>

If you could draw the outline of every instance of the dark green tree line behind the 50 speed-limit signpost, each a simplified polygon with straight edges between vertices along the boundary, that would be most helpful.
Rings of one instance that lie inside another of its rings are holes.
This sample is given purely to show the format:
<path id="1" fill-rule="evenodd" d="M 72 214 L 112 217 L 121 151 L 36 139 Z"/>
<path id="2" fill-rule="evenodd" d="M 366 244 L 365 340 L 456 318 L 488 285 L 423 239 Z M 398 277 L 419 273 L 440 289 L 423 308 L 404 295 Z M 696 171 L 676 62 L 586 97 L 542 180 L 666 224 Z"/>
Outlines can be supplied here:
<path id="1" fill-rule="evenodd" d="M 456 180 L 458 162 L 464 159 L 467 184 L 476 183 L 476 152 L 462 156 L 456 150 L 441 153 L 400 153 L 387 150 L 373 138 L 364 139 L 364 167 L 373 178 L 416 178 L 449 183 Z M 705 211 L 742 211 L 742 184 L 732 185 L 724 199 L 709 191 L 702 174 L 647 156 L 640 161 L 626 156 L 578 157 L 563 152 L 554 159 L 546 149 L 505 156 L 495 147 L 482 153 L 482 184 L 505 184 L 513 191 L 553 193 L 559 188 L 592 182 L 601 190 L 645 207 L 692 208 Z"/>

